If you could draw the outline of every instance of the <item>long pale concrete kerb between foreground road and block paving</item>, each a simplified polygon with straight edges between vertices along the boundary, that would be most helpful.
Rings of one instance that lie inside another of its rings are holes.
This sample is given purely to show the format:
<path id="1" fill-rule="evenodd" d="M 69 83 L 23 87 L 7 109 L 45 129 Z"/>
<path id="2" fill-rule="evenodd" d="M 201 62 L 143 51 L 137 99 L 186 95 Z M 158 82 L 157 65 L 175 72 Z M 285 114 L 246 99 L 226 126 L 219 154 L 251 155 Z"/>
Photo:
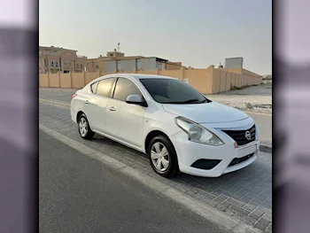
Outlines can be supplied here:
<path id="1" fill-rule="evenodd" d="M 190 197 L 187 194 L 182 193 L 179 190 L 175 190 L 173 187 L 167 185 L 166 183 L 161 183 L 149 175 L 144 175 L 137 171 L 133 167 L 128 167 L 124 163 L 120 162 L 117 159 L 112 159 L 108 155 L 105 155 L 102 152 L 93 150 L 81 143 L 76 142 L 75 140 L 59 134 L 58 132 L 45 127 L 42 124 L 39 124 L 39 128 L 43 130 L 44 133 L 56 138 L 58 141 L 69 145 L 77 151 L 89 156 L 90 158 L 97 159 L 103 164 L 112 167 L 115 170 L 118 170 L 124 175 L 128 175 L 136 181 L 143 183 L 151 190 L 156 191 L 160 195 L 163 195 L 167 198 L 170 198 L 174 202 L 179 203 L 180 205 L 190 209 L 194 213 L 200 215 L 208 221 L 213 222 L 218 225 L 221 229 L 229 230 L 229 232 L 235 233 L 259 233 L 262 232 L 260 229 L 256 229 L 251 225 L 236 219 L 228 214 L 224 214 L 216 208 L 208 205 L 202 205 L 197 199 Z"/>

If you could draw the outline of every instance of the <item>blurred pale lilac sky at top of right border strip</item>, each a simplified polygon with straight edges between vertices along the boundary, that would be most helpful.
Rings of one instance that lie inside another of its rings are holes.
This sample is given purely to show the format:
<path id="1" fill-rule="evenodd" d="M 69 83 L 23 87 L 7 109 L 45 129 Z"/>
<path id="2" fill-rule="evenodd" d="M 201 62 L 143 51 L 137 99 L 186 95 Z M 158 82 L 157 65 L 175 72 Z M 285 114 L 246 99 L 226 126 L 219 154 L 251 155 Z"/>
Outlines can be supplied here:
<path id="1" fill-rule="evenodd" d="M 304 65 L 310 62 L 309 0 L 281 0 L 282 13 L 276 27 L 279 29 L 279 54 L 290 63 Z M 280 12 L 280 11 L 279 11 Z"/>

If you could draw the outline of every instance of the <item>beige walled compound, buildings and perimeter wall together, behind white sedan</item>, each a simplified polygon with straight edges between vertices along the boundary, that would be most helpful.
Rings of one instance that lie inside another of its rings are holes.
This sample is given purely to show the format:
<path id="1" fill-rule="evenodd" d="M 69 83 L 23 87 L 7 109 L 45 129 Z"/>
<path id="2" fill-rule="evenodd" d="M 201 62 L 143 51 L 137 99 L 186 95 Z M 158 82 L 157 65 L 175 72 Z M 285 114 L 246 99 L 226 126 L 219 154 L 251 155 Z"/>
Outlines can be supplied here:
<path id="1" fill-rule="evenodd" d="M 225 67 L 197 69 L 157 57 L 130 56 L 114 50 L 98 58 L 81 57 L 76 50 L 40 47 L 39 87 L 81 89 L 105 74 L 156 74 L 174 77 L 203 94 L 258 85 L 262 77 L 243 67 L 243 58 L 225 59 Z M 83 72 L 84 71 L 84 72 Z"/>

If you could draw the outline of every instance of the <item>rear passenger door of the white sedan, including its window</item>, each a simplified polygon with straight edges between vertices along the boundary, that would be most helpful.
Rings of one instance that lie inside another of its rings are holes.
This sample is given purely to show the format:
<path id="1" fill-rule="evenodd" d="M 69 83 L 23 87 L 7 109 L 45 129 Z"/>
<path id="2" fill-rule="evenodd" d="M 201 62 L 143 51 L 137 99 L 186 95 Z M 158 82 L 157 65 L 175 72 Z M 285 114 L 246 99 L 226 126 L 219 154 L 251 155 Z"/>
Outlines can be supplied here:
<path id="1" fill-rule="evenodd" d="M 105 108 L 110 97 L 115 78 L 106 78 L 91 86 L 93 94 L 84 101 L 84 111 L 90 128 L 105 133 Z"/>

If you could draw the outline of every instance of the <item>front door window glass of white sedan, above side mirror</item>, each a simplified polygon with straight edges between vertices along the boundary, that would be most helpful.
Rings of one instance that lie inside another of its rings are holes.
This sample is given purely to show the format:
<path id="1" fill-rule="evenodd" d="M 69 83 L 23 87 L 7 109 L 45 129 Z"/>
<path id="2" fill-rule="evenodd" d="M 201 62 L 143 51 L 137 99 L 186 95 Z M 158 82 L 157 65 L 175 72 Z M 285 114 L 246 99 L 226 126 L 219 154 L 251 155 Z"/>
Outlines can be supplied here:
<path id="1" fill-rule="evenodd" d="M 138 95 L 140 97 L 143 97 L 134 82 L 131 82 L 130 80 L 125 78 L 119 78 L 116 82 L 113 98 L 121 101 L 126 101 L 127 97 L 130 95 Z"/>

